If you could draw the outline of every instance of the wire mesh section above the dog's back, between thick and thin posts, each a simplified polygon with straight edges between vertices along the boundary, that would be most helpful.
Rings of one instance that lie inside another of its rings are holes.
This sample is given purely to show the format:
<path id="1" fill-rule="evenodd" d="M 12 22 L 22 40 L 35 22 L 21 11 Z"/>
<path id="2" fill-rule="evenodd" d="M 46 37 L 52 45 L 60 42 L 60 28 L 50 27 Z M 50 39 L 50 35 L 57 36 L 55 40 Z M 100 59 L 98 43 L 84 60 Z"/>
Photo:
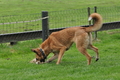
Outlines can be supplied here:
<path id="1" fill-rule="evenodd" d="M 49 12 L 49 16 L 50 29 L 88 25 L 87 8 Z"/>

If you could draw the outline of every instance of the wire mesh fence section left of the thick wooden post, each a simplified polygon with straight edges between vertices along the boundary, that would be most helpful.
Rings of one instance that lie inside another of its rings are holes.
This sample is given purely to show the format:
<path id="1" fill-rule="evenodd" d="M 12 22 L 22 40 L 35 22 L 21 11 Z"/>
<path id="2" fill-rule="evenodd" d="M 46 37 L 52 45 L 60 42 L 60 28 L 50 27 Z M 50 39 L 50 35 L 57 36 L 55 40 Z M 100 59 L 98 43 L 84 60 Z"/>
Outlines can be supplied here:
<path id="1" fill-rule="evenodd" d="M 41 30 L 41 13 L 0 16 L 0 34 Z"/>

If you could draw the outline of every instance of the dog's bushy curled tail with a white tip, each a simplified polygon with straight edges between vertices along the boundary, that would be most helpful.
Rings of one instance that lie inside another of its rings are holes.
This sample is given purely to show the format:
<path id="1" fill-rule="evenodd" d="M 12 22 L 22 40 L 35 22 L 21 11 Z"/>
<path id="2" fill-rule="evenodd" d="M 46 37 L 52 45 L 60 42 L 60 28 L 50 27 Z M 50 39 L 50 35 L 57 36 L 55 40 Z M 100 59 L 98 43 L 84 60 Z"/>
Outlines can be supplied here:
<path id="1" fill-rule="evenodd" d="M 95 23 L 90 27 L 86 27 L 87 32 L 97 31 L 102 27 L 102 17 L 100 14 L 92 13 L 89 16 L 88 21 L 91 21 L 92 19 L 95 21 Z"/>

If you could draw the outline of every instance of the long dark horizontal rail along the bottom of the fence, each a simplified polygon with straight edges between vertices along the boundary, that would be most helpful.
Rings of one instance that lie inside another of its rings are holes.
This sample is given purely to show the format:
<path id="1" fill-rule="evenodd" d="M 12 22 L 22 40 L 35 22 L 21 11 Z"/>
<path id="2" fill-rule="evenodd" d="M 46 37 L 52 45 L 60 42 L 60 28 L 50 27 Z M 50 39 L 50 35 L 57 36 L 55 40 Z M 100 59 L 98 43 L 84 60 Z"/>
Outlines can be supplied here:
<path id="1" fill-rule="evenodd" d="M 85 25 L 83 27 L 89 27 L 89 25 Z M 65 27 L 50 29 L 49 33 L 59 31 L 62 29 L 65 29 Z M 99 31 L 110 30 L 110 29 L 120 29 L 120 22 L 104 23 L 103 27 Z M 24 41 L 24 40 L 31 40 L 31 39 L 38 39 L 38 38 L 42 38 L 42 30 L 28 31 L 28 32 L 21 32 L 21 33 L 11 33 L 11 34 L 1 34 L 0 43 L 17 42 L 17 41 Z"/>

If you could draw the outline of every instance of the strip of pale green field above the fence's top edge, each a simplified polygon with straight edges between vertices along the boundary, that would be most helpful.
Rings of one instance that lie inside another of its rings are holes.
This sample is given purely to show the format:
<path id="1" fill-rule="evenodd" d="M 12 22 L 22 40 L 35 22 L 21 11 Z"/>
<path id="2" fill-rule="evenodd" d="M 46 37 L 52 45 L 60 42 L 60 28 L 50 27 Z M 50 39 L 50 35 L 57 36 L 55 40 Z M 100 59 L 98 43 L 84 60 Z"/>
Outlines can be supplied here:
<path id="1" fill-rule="evenodd" d="M 118 0 L 1 0 L 0 15 L 30 14 L 46 11 L 82 9 L 94 6 L 119 6 Z"/>

